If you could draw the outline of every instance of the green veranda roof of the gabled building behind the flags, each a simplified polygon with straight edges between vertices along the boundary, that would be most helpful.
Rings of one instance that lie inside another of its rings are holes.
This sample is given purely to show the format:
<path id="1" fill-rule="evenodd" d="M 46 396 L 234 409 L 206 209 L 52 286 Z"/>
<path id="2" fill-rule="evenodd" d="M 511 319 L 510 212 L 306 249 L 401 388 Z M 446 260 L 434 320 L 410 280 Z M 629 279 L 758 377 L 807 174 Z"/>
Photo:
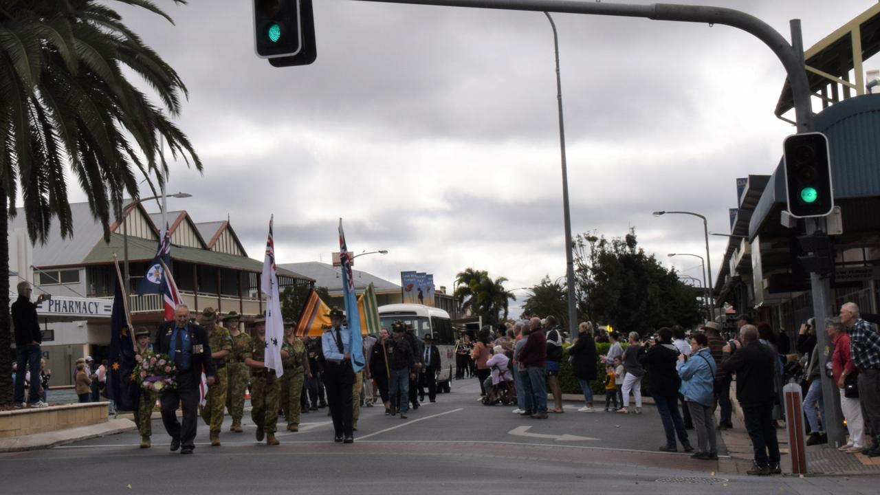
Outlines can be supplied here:
<path id="1" fill-rule="evenodd" d="M 113 233 L 110 235 L 110 242 L 106 243 L 101 240 L 92 248 L 92 251 L 85 256 L 82 262 L 77 264 L 106 263 L 113 260 L 114 253 L 121 255 L 122 253 L 122 235 Z M 132 262 L 148 262 L 156 255 L 156 241 L 140 239 L 128 236 L 128 260 Z M 263 270 L 263 262 L 248 258 L 246 256 L 227 255 L 225 253 L 217 253 L 209 249 L 199 249 L 196 247 L 173 246 L 171 248 L 172 260 L 180 260 L 183 262 L 193 262 L 203 265 L 211 265 L 232 270 L 246 270 L 253 272 L 261 272 Z M 299 273 L 278 267 L 278 275 L 286 277 L 296 277 L 307 281 L 313 281 L 312 277 L 303 276 Z"/>

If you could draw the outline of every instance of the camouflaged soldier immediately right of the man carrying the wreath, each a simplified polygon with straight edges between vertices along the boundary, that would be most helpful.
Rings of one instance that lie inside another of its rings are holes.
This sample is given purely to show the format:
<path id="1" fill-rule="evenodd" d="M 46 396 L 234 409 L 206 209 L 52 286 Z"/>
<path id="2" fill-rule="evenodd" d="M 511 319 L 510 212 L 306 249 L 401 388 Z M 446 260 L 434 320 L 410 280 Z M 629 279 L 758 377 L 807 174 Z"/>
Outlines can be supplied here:
<path id="1" fill-rule="evenodd" d="M 202 407 L 202 419 L 206 425 L 210 425 L 211 446 L 220 445 L 220 429 L 223 427 L 224 408 L 226 407 L 226 386 L 228 384 L 226 358 L 232 351 L 232 342 L 229 330 L 216 324 L 217 314 L 212 307 L 202 310 L 199 318 L 202 327 L 208 332 L 208 345 L 211 349 L 211 359 L 216 368 L 216 380 L 208 386 L 208 395 L 205 397 L 205 406 Z"/>

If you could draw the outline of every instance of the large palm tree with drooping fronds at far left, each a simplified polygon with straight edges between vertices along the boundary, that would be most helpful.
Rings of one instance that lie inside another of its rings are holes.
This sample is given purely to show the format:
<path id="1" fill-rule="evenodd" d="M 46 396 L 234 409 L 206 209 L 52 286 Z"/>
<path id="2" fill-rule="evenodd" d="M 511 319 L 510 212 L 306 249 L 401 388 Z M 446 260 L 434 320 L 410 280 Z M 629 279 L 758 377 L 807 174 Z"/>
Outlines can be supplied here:
<path id="1" fill-rule="evenodd" d="M 115 0 L 172 19 L 150 0 Z M 173 0 L 186 4 L 183 0 Z M 139 75 L 162 102 L 136 89 Z M 28 234 L 46 242 L 53 218 L 73 235 L 67 199 L 70 167 L 109 239 L 110 213 L 125 195 L 138 197 L 140 176 L 165 183 L 160 137 L 187 165 L 202 162 L 171 121 L 187 96 L 177 72 L 94 0 L 0 0 L 0 226 L 17 213 L 21 191 Z M 9 245 L 0 240 L 0 306 L 9 307 Z M 11 368 L 9 312 L 0 312 L 0 370 Z M 0 404 L 12 402 L 9 373 L 0 373 Z"/>

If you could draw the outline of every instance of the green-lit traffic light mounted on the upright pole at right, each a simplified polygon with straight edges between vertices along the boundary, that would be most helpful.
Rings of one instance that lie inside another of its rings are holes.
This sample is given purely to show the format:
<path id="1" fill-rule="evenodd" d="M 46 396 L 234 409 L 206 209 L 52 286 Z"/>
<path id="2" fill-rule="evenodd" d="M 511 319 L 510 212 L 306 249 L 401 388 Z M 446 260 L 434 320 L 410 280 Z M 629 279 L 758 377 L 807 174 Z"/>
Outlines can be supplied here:
<path id="1" fill-rule="evenodd" d="M 782 144 L 788 212 L 792 217 L 825 217 L 834 209 L 828 138 L 820 132 L 796 134 Z"/>

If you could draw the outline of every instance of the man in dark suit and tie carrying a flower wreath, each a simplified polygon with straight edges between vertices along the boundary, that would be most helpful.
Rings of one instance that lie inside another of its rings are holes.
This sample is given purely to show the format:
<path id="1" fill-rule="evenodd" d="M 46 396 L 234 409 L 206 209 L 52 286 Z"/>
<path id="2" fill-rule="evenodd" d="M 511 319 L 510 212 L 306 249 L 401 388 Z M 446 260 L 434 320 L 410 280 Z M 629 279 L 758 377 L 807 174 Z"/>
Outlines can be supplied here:
<path id="1" fill-rule="evenodd" d="M 155 348 L 159 354 L 167 354 L 177 366 L 177 388 L 164 390 L 159 395 L 162 404 L 162 423 L 171 435 L 171 451 L 178 448 L 180 454 L 192 454 L 195 440 L 195 425 L 198 421 L 199 382 L 202 368 L 208 385 L 216 380 L 208 332 L 189 321 L 189 308 L 184 305 L 174 309 L 174 320 L 165 321 L 156 333 Z M 183 425 L 175 411 L 180 405 L 183 412 Z"/>

